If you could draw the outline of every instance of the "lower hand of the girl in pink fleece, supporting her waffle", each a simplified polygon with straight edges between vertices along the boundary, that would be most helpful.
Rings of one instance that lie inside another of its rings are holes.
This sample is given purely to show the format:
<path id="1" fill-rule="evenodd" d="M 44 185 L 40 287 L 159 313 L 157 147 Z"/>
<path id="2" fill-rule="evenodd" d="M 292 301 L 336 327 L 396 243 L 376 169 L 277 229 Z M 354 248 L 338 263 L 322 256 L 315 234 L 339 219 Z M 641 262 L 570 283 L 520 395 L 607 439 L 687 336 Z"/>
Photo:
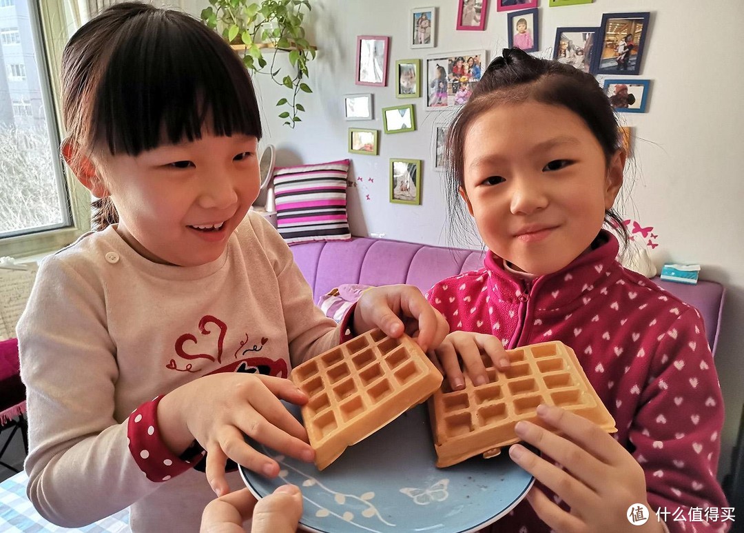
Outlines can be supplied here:
<path id="1" fill-rule="evenodd" d="M 516 425 L 516 434 L 562 468 L 520 444 L 513 444 L 509 455 L 571 508 L 564 511 L 539 488 L 532 488 L 527 501 L 541 520 L 558 533 L 664 531 L 646 499 L 644 470 L 615 438 L 565 409 L 541 405 L 537 412 L 563 436 L 526 421 Z M 647 508 L 643 526 L 629 520 L 629 508 L 638 503 Z"/>

